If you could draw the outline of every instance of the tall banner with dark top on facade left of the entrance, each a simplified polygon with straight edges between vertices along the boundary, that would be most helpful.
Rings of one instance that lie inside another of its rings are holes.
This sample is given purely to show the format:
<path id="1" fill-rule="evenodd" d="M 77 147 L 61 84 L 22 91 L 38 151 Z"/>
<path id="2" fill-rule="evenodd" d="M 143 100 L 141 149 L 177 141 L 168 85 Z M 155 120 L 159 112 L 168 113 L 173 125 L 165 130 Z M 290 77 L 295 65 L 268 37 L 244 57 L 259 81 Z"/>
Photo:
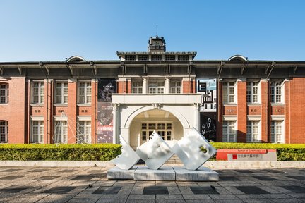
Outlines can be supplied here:
<path id="1" fill-rule="evenodd" d="M 116 80 L 98 80 L 97 143 L 112 143 L 113 114 L 112 93 L 116 93 Z"/>

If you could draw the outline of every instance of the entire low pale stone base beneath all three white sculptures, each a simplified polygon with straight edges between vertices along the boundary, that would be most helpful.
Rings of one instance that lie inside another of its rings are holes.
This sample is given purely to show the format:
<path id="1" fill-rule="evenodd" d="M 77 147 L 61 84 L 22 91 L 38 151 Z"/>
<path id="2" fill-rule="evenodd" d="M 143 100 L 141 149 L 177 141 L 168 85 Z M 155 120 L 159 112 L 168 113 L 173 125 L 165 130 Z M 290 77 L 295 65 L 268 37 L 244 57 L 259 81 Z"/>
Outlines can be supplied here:
<path id="1" fill-rule="evenodd" d="M 201 166 L 198 170 L 189 171 L 183 166 L 162 166 L 158 170 L 146 166 L 133 166 L 130 170 L 121 170 L 117 167 L 107 171 L 108 179 L 133 180 L 176 180 L 176 181 L 218 181 L 217 172 Z"/>

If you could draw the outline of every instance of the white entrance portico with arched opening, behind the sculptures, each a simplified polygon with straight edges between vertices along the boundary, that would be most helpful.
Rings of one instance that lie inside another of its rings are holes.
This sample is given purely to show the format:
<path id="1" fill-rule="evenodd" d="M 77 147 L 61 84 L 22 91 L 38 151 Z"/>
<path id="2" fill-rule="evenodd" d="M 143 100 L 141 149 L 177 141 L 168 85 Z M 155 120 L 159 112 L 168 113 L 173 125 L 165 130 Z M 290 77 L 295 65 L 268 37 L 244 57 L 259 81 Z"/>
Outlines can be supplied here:
<path id="1" fill-rule="evenodd" d="M 142 123 L 147 124 L 146 130 L 157 131 L 157 123 L 170 126 L 170 122 L 174 137 L 168 140 L 179 140 L 190 128 L 198 129 L 201 97 L 201 94 L 113 94 L 113 142 L 119 144 L 119 135 L 122 135 L 128 144 L 137 147 L 138 139 L 140 143 L 145 140 Z M 155 129 L 148 129 L 149 124 L 153 125 L 150 121 L 155 123 Z M 162 126 L 159 125 L 160 128 Z M 136 142 L 134 137 L 137 137 Z"/>

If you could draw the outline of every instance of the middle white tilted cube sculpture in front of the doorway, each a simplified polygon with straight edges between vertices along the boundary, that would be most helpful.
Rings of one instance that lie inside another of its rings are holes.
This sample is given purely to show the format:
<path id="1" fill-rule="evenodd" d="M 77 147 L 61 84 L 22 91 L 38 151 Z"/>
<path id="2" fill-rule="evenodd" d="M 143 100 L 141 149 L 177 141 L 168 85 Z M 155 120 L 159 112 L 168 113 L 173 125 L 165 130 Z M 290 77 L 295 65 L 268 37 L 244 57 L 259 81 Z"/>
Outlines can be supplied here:
<path id="1" fill-rule="evenodd" d="M 150 140 L 136 150 L 136 154 L 145 161 L 148 168 L 157 170 L 174 155 L 174 152 L 165 140 L 154 131 Z"/>

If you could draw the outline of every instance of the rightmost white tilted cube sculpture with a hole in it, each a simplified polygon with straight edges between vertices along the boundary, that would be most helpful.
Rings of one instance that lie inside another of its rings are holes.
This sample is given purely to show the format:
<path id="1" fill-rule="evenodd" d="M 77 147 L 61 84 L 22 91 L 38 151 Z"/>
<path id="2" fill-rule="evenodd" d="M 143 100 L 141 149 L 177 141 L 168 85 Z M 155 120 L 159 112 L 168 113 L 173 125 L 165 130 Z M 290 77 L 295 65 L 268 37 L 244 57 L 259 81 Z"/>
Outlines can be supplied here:
<path id="1" fill-rule="evenodd" d="M 202 147 L 206 152 L 201 150 Z M 188 170 L 198 169 L 217 152 L 195 128 L 191 129 L 172 149 Z"/>

